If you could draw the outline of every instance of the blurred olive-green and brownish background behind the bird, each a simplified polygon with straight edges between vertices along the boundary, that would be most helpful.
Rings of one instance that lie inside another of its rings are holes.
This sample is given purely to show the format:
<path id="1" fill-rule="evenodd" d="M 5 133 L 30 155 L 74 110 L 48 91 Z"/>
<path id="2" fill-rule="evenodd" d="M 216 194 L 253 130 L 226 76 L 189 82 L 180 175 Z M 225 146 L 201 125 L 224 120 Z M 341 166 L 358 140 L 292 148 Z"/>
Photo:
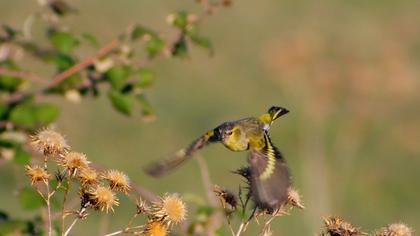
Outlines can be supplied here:
<path id="1" fill-rule="evenodd" d="M 131 23 L 165 34 L 169 13 L 201 11 L 194 1 L 71 2 L 79 13 L 66 23 L 74 32 L 98 35 L 101 44 Z M 20 25 L 36 7 L 35 1 L 2 0 L 0 23 Z M 81 104 L 55 99 L 63 107 L 57 127 L 74 150 L 125 171 L 149 190 L 205 200 L 197 162 L 159 180 L 143 174 L 142 166 L 223 121 L 281 105 L 291 113 L 275 124 L 271 137 L 289 163 L 306 210 L 277 219 L 275 235 L 313 235 L 331 214 L 365 231 L 400 221 L 418 231 L 419 9 L 416 0 L 235 1 L 202 23 L 213 56 L 192 48 L 190 60 L 152 63 L 158 77 L 148 90 L 154 122 L 124 117 L 102 96 Z M 24 69 L 51 75 L 30 62 Z M 201 155 L 214 183 L 237 189 L 242 180 L 229 171 L 245 164 L 245 153 L 212 146 Z M 27 215 L 14 191 L 16 182 L 26 180 L 14 174 L 21 167 L 10 167 L 0 169 L 0 207 Z M 132 210 L 127 202 L 109 216 L 109 231 L 127 222 Z M 75 234 L 97 234 L 98 221 L 81 222 Z"/>

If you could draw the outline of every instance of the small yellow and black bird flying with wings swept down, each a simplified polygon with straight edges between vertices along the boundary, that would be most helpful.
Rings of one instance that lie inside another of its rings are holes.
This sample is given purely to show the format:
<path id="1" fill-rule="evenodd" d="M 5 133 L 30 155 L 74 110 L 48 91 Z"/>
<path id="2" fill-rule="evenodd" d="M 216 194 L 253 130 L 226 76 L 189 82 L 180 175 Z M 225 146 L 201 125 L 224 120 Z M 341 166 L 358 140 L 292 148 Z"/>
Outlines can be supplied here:
<path id="1" fill-rule="evenodd" d="M 269 130 L 276 119 L 287 113 L 289 110 L 286 108 L 272 106 L 260 116 L 224 122 L 186 148 L 149 164 L 144 170 L 153 177 L 167 175 L 211 143 L 222 143 L 235 152 L 248 151 L 249 166 L 240 168 L 236 173 L 247 179 L 250 185 L 248 195 L 256 207 L 273 212 L 287 202 L 291 175 L 281 152 L 270 139 Z"/>

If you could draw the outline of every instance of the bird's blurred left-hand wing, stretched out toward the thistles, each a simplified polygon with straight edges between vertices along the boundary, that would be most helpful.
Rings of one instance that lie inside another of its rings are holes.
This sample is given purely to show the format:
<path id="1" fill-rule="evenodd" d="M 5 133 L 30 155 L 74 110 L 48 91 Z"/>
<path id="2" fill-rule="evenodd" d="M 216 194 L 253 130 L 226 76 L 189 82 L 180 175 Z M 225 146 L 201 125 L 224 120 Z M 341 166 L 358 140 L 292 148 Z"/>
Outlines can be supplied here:
<path id="1" fill-rule="evenodd" d="M 187 148 L 179 150 L 169 158 L 149 164 L 146 168 L 144 168 L 144 171 L 153 177 L 160 177 L 169 174 L 186 160 L 189 160 L 197 150 L 209 143 L 209 139 L 212 136 L 213 131 L 207 132 L 192 142 Z"/>

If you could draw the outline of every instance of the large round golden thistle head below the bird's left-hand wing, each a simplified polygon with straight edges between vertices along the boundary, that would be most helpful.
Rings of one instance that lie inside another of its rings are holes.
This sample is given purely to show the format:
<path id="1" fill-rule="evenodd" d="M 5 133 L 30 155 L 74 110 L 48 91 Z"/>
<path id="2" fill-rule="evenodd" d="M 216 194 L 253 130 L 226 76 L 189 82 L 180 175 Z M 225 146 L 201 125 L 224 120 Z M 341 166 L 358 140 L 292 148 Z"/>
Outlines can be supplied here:
<path id="1" fill-rule="evenodd" d="M 180 223 L 187 214 L 185 203 L 176 194 L 166 194 L 154 202 L 152 211 L 154 219 L 164 220 L 168 225 Z"/>

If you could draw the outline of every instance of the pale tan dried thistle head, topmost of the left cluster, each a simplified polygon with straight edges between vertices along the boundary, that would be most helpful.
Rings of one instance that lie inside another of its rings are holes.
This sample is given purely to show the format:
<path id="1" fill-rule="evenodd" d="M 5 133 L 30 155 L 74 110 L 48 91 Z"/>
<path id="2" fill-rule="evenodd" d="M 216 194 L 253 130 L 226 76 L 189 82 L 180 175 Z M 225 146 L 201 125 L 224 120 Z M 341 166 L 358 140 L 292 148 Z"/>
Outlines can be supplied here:
<path id="1" fill-rule="evenodd" d="M 52 129 L 41 130 L 32 136 L 31 145 L 46 156 L 63 154 L 70 148 L 64 137 Z"/>

